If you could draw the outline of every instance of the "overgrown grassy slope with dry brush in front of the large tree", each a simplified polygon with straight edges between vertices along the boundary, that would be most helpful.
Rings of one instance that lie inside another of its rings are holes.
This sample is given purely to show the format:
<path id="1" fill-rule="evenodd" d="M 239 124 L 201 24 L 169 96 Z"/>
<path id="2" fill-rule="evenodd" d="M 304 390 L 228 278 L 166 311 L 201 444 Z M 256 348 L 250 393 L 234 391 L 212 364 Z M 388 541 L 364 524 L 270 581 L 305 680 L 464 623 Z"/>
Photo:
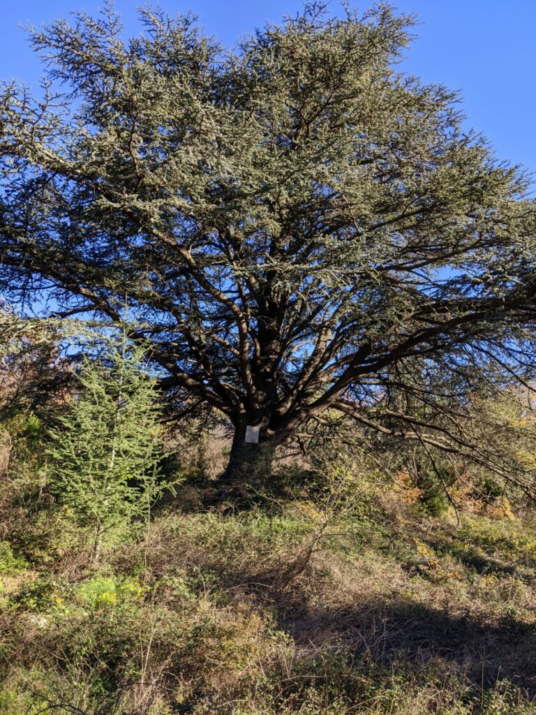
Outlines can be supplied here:
<path id="1" fill-rule="evenodd" d="M 470 506 L 457 526 L 372 477 L 352 498 L 182 485 L 95 563 L 68 514 L 13 500 L 0 711 L 536 712 L 536 521 Z"/>

